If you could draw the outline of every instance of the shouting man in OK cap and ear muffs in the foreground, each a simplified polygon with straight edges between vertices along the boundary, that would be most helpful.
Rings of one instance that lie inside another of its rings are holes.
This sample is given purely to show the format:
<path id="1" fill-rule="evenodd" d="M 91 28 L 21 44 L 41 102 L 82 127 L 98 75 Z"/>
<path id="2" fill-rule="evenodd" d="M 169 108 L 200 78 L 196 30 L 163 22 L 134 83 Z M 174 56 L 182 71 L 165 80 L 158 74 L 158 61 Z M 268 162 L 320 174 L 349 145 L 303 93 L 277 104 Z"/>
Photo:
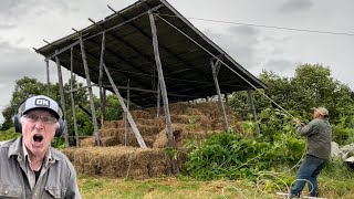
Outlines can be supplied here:
<path id="1" fill-rule="evenodd" d="M 0 144 L 0 198 L 81 198 L 67 157 L 51 147 L 65 126 L 60 106 L 38 95 L 14 116 L 17 139 Z"/>

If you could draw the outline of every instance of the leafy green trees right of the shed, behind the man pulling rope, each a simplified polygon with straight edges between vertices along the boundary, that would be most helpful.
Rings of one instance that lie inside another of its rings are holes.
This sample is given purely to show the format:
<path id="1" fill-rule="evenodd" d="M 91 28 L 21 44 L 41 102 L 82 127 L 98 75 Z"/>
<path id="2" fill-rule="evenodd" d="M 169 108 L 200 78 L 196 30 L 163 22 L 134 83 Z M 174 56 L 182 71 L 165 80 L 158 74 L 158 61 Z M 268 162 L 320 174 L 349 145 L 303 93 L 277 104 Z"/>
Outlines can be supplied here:
<path id="1" fill-rule="evenodd" d="M 354 126 L 353 91 L 340 81 L 331 77 L 331 70 L 327 66 L 321 64 L 299 65 L 292 78 L 281 77 L 273 72 L 263 71 L 259 78 L 267 85 L 266 90 L 254 92 L 254 104 L 262 134 L 282 132 L 281 126 L 287 125 L 283 124 L 283 116 L 288 115 L 274 103 L 271 103 L 263 95 L 266 94 L 278 105 L 293 116 L 300 117 L 303 122 L 312 119 L 313 107 L 326 107 L 330 111 L 331 124 L 334 125 L 334 140 L 340 144 L 354 140 L 353 129 L 350 129 Z M 247 93 L 233 93 L 230 98 L 230 107 L 244 118 L 248 118 L 250 114 Z M 275 112 L 269 112 L 267 111 L 268 108 L 272 108 Z M 264 113 L 267 113 L 267 117 L 263 117 Z M 278 122 L 275 118 L 278 118 Z M 270 127 L 270 123 L 272 127 Z M 267 126 L 266 128 L 264 125 Z M 278 127 L 274 128 L 274 126 Z"/>

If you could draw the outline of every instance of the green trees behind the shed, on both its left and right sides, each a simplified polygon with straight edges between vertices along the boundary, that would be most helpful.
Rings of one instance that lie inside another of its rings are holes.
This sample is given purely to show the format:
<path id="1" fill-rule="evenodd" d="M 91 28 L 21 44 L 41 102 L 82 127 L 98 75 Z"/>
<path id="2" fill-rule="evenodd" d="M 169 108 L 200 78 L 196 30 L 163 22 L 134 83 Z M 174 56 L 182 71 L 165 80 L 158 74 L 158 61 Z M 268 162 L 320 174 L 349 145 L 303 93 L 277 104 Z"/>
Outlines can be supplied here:
<path id="1" fill-rule="evenodd" d="M 295 117 L 300 117 L 303 122 L 309 122 L 312 118 L 312 108 L 324 106 L 330 111 L 331 124 L 336 130 L 335 136 L 339 139 L 346 139 L 354 142 L 354 92 L 345 84 L 341 83 L 331 76 L 331 70 L 322 64 L 301 64 L 295 69 L 293 77 L 283 77 L 272 71 L 263 71 L 259 78 L 267 85 L 267 88 L 254 91 L 254 105 L 258 115 L 258 123 L 261 126 L 261 133 L 269 130 L 271 127 L 269 109 L 275 113 L 275 118 L 283 117 L 283 113 L 278 105 L 282 106 Z M 31 94 L 46 94 L 46 83 L 39 82 L 35 78 L 23 77 L 15 82 L 15 87 L 8 106 L 2 111 L 4 122 L 1 125 L 2 130 L 10 129 L 12 124 L 12 116 L 21 102 L 23 102 Z M 59 84 L 51 83 L 50 97 L 60 102 Z M 73 81 L 73 87 L 81 87 L 82 83 Z M 64 84 L 64 91 L 70 90 L 70 83 Z M 272 98 L 278 105 L 271 103 L 263 94 Z M 75 113 L 77 117 L 79 135 L 88 136 L 93 133 L 93 125 L 90 115 L 85 109 L 90 111 L 90 102 L 86 90 L 79 90 L 74 94 L 76 103 Z M 100 100 L 94 96 L 97 118 L 101 118 Z M 250 118 L 250 111 L 247 101 L 246 92 L 236 92 L 229 96 L 229 106 L 244 121 Z M 65 93 L 65 104 L 71 104 L 70 94 Z M 74 134 L 73 117 L 71 106 L 66 106 L 66 121 L 69 123 L 69 133 Z M 106 119 L 121 119 L 122 108 L 115 95 L 107 95 Z M 267 115 L 268 116 L 264 116 Z M 277 122 L 281 125 L 282 122 Z M 353 135 L 352 135 L 353 134 Z M 343 142 L 342 142 L 343 143 Z"/>

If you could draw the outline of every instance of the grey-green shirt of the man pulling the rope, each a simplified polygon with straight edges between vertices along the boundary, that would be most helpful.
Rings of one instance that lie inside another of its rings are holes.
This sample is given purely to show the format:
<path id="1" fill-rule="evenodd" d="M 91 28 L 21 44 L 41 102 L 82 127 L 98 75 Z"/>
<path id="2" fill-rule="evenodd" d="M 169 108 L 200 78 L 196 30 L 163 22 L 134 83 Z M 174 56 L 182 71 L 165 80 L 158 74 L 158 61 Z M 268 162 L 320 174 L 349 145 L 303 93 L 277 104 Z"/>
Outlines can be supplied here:
<path id="1" fill-rule="evenodd" d="M 332 129 L 327 119 L 315 118 L 306 126 L 296 126 L 296 132 L 308 138 L 308 154 L 329 159 L 331 156 Z"/>

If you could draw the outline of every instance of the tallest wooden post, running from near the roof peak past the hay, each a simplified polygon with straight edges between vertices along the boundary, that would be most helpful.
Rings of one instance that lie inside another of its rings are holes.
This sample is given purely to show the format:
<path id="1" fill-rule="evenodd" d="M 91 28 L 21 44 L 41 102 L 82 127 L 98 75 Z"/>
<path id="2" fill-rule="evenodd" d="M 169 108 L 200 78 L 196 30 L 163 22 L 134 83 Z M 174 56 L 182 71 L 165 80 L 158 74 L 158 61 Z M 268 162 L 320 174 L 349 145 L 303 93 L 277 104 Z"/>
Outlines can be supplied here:
<path id="1" fill-rule="evenodd" d="M 150 25 L 152 25 L 154 55 L 155 55 L 155 62 L 156 62 L 157 72 L 158 72 L 158 82 L 159 82 L 159 86 L 162 88 L 162 95 L 163 95 L 163 101 L 164 101 L 165 118 L 166 118 L 167 133 L 168 133 L 168 146 L 174 148 L 173 125 L 170 122 L 167 90 L 166 90 L 166 84 L 165 84 L 165 78 L 164 78 L 163 64 L 162 64 L 162 61 L 159 57 L 157 30 L 156 30 L 154 14 L 152 13 L 152 11 L 148 11 L 148 17 L 150 20 Z M 171 163 L 173 163 L 173 172 L 177 172 L 176 161 L 173 159 Z"/>

